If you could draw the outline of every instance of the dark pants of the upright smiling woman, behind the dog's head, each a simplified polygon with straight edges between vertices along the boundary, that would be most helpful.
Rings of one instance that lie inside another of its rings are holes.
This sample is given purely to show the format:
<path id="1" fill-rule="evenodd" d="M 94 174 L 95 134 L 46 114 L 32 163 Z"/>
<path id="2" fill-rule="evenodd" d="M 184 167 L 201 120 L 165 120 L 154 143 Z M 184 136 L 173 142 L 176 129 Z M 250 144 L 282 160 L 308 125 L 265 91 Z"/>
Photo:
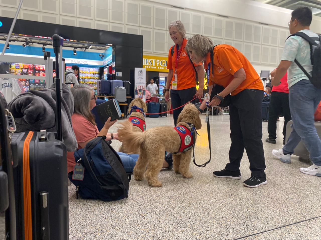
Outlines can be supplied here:
<path id="1" fill-rule="evenodd" d="M 172 103 L 172 108 L 178 108 L 183 104 L 187 103 L 188 101 L 194 98 L 196 93 L 196 88 L 187 88 L 184 90 L 170 90 L 170 100 Z M 194 102 L 193 102 L 194 103 Z M 173 111 L 173 118 L 174 118 L 174 126 L 176 126 L 177 118 L 180 112 L 183 110 L 184 107 L 178 108 Z"/>

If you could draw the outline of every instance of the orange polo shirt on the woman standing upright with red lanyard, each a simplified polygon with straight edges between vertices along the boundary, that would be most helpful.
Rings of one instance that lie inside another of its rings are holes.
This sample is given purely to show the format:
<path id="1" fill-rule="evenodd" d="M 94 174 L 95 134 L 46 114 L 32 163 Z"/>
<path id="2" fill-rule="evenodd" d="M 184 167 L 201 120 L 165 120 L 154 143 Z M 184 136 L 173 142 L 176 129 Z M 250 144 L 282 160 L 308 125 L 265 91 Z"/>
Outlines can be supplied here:
<path id="1" fill-rule="evenodd" d="M 185 50 L 185 46 L 187 43 L 187 39 L 183 39 L 183 44 L 181 47 L 181 52 L 178 58 L 178 64 L 177 64 L 177 90 L 183 90 L 183 89 L 188 89 L 192 87 L 196 87 L 196 74 L 195 70 L 192 66 L 191 61 L 189 60 L 187 56 L 187 52 Z M 176 60 L 177 60 L 177 51 L 176 45 L 174 46 L 174 53 L 173 56 L 171 55 L 171 49 L 169 49 L 168 52 L 168 60 L 167 60 L 167 69 L 172 69 L 173 70 L 173 77 L 170 81 L 170 84 L 172 81 L 175 80 L 174 74 L 175 74 L 175 66 L 176 66 Z M 202 63 L 195 64 L 193 63 L 194 66 L 200 66 L 203 65 Z"/>

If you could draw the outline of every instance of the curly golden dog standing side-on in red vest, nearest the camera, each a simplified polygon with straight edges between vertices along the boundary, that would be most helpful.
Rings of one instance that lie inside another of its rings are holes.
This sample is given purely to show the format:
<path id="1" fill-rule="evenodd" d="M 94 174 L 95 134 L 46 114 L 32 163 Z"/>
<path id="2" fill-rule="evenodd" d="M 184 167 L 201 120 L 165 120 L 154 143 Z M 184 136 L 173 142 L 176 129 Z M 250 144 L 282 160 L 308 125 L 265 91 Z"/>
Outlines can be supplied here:
<path id="1" fill-rule="evenodd" d="M 175 128 L 155 127 L 146 132 L 135 132 L 133 125 L 128 121 L 121 123 L 122 126 L 117 131 L 119 140 L 128 146 L 130 152 L 140 148 L 140 155 L 134 167 L 135 180 L 143 180 L 145 173 L 150 186 L 161 187 L 158 174 L 162 168 L 165 151 L 173 153 L 174 172 L 180 173 L 184 178 L 192 178 L 192 173 L 189 171 L 193 152 L 191 135 L 194 134 L 196 140 L 196 130 L 202 127 L 195 105 L 187 104 L 179 114 L 177 123 Z"/>

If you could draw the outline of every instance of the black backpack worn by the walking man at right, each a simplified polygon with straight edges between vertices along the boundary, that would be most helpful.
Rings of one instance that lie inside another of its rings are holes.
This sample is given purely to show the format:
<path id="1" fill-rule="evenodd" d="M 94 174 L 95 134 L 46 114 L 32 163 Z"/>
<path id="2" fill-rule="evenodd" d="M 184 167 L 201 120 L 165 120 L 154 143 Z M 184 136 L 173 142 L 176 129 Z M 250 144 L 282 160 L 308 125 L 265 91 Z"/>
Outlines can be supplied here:
<path id="1" fill-rule="evenodd" d="M 309 37 L 303 32 L 297 32 L 295 34 L 292 34 L 291 36 L 300 36 L 304 40 L 308 41 L 311 51 L 311 64 L 313 65 L 312 76 L 308 74 L 308 72 L 302 67 L 301 64 L 299 64 L 296 59 L 294 60 L 294 62 L 299 66 L 304 74 L 307 75 L 311 83 L 316 88 L 321 89 L 321 36 L 319 35 L 319 37 Z M 320 43 L 317 44 L 316 41 L 320 41 Z M 316 47 L 313 49 L 313 46 Z"/>

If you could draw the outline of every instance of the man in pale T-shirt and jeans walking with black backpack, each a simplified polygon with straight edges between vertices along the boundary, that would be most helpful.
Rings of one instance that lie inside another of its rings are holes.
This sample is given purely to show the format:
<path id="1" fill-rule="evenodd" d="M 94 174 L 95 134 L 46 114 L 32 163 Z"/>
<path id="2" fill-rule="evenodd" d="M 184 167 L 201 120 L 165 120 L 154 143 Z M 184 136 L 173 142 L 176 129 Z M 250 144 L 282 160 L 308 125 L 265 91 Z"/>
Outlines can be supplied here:
<path id="1" fill-rule="evenodd" d="M 273 150 L 272 154 L 283 163 L 291 163 L 291 154 L 302 140 L 313 165 L 300 171 L 321 177 L 321 140 L 314 125 L 314 113 L 321 101 L 321 37 L 310 31 L 312 12 L 308 7 L 299 7 L 291 15 L 288 22 L 291 36 L 285 41 L 272 84 L 280 84 L 288 71 L 293 131 L 284 147 Z"/>

